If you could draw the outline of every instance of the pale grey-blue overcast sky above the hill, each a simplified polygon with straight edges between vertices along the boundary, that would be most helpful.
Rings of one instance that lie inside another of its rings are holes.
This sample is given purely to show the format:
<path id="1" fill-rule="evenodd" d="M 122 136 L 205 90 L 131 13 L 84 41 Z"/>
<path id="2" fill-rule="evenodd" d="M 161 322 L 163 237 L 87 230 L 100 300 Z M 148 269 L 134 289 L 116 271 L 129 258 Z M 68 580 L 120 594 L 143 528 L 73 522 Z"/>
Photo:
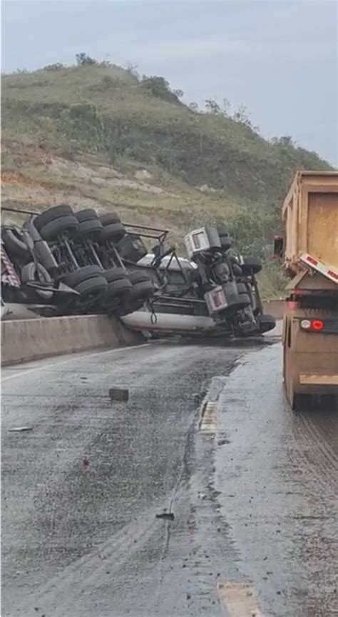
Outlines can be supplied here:
<path id="1" fill-rule="evenodd" d="M 262 134 L 337 154 L 335 0 L 3 0 L 2 70 L 79 51 L 164 76 L 185 101 L 245 104 Z"/>

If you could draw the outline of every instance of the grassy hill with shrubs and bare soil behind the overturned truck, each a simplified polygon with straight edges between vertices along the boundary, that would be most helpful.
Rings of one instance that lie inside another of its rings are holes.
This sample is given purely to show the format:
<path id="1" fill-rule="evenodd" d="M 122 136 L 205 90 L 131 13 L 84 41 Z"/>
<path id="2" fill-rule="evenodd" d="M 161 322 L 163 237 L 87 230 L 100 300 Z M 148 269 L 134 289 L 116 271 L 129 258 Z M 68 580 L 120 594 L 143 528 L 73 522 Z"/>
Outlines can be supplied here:
<path id="1" fill-rule="evenodd" d="M 222 222 L 264 256 L 296 169 L 330 169 L 290 138 L 262 139 L 243 110 L 190 109 L 161 77 L 78 63 L 3 76 L 5 204 L 117 209 L 178 244 L 191 226 Z"/>

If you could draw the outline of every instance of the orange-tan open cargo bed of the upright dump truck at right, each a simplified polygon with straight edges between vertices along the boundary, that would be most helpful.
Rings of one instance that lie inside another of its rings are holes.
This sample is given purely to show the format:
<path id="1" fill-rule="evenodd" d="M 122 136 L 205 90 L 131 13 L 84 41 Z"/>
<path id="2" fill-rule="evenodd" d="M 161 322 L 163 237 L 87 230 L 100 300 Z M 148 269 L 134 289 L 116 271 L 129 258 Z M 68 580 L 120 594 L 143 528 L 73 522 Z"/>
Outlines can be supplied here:
<path id="1" fill-rule="evenodd" d="M 309 255 L 338 269 L 338 172 L 299 171 L 285 199 L 285 266 L 297 274 Z"/>

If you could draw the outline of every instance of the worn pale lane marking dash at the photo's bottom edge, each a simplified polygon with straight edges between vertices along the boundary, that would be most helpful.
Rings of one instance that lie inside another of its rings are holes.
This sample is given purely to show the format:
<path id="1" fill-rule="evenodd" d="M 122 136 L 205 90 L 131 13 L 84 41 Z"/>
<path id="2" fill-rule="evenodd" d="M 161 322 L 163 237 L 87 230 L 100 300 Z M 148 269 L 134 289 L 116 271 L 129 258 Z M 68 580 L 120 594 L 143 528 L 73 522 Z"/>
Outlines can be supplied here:
<path id="1" fill-rule="evenodd" d="M 250 581 L 223 581 L 217 584 L 217 593 L 230 617 L 264 617 Z"/>

